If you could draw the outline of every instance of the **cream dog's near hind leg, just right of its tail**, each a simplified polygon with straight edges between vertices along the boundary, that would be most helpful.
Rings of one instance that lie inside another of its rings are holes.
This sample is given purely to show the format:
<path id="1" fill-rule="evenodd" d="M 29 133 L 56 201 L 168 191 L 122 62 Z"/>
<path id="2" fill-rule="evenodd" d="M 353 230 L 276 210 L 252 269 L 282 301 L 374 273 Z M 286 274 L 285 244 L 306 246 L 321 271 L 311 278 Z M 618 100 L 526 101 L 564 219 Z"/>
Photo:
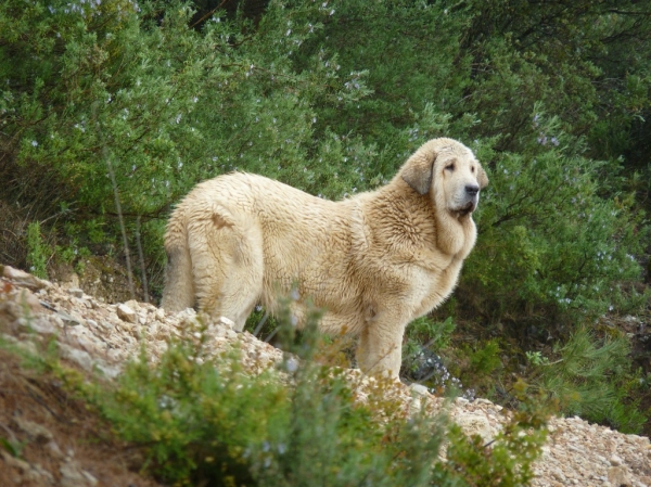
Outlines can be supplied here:
<path id="1" fill-rule="evenodd" d="M 255 223 L 225 213 L 202 227 L 191 239 L 199 306 L 214 318 L 229 318 L 242 331 L 263 287 L 260 232 Z"/>

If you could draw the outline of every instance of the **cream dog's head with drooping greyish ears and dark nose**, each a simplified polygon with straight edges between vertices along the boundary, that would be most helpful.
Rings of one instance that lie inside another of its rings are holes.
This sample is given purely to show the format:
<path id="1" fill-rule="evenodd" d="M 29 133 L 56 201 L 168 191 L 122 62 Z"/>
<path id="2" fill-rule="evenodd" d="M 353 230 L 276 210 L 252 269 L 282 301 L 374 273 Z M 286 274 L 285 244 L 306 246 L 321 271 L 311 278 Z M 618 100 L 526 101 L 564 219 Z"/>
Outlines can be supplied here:
<path id="1" fill-rule="evenodd" d="M 437 208 L 457 217 L 475 210 L 488 177 L 470 149 L 452 139 L 433 139 L 409 157 L 400 177 Z"/>

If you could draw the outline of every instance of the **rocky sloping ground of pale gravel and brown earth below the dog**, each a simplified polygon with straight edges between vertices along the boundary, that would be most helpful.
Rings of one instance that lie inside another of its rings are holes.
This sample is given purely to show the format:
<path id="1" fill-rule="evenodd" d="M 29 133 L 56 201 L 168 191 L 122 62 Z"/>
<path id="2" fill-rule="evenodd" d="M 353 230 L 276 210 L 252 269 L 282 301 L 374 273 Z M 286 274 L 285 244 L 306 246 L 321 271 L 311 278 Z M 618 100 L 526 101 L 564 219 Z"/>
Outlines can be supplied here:
<path id="1" fill-rule="evenodd" d="M 193 320 L 193 312 L 169 316 L 135 300 L 106 304 L 75 282 L 53 284 L 0 266 L 0 339 L 35 354 L 42 349 L 39 342 L 55 339 L 63 360 L 82 371 L 99 369 L 108 380 L 143 346 L 152 358 L 159 357 L 167 339 L 181 336 Z M 228 323 L 210 326 L 209 333 L 215 353 L 239 347 L 252 373 L 282 359 L 279 349 L 250 333 L 235 333 Z M 106 426 L 71 399 L 62 384 L 25 372 L 13 357 L 0 348 L 1 485 L 155 485 L 131 471 L 138 452 L 116 444 Z M 363 400 L 370 381 L 353 371 L 349 376 Z M 413 407 L 414 394 L 427 396 L 434 409 L 444 407 L 424 388 L 395 384 L 393 394 L 406 410 Z M 449 413 L 464 431 L 487 443 L 506 421 L 502 408 L 486 399 L 459 398 Z M 535 470 L 534 486 L 651 486 L 651 445 L 646 437 L 578 418 L 554 418 Z"/>

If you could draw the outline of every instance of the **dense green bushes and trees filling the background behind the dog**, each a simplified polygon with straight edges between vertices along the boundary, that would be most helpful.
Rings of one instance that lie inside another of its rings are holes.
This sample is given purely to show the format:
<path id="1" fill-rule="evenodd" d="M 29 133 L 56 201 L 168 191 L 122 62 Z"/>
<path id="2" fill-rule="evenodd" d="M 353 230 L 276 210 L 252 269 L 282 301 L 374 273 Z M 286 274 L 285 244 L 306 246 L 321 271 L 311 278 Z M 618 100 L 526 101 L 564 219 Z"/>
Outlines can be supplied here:
<path id="1" fill-rule="evenodd" d="M 525 353 L 548 357 L 526 373 L 551 396 L 613 392 L 566 412 L 639 430 L 649 371 L 595 322 L 649 313 L 650 17 L 634 0 L 8 0 L 0 200 L 40 222 L 10 264 L 141 247 L 156 294 L 166 216 L 197 181 L 241 169 L 336 198 L 457 138 L 490 178 L 480 239 L 430 321 L 448 328 L 411 344 L 506 402 Z"/>

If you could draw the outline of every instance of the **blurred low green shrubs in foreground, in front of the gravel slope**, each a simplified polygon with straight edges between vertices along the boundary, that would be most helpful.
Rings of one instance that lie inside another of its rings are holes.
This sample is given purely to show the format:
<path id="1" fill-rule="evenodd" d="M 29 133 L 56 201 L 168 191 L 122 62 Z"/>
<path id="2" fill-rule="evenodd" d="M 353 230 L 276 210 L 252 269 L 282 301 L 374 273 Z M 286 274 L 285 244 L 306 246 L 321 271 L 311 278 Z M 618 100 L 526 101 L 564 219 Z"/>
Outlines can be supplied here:
<path id="1" fill-rule="evenodd" d="M 290 338 L 294 328 L 286 320 L 281 328 Z M 548 414 L 536 396 L 523 394 L 485 445 L 433 415 L 424 399 L 407 412 L 391 381 L 359 400 L 343 369 L 309 361 L 320 339 L 314 319 L 301 344 L 285 343 L 285 361 L 258 376 L 242 370 L 237 351 L 215 357 L 205 332 L 188 325 L 159 363 L 142 355 L 108 383 L 63 366 L 55 347 L 14 351 L 69 394 L 76 410 L 107 422 L 113 435 L 103 433 L 103 441 L 123 441 L 133 467 L 166 485 L 508 487 L 533 477 Z M 20 456 L 2 439 L 0 448 Z"/>

